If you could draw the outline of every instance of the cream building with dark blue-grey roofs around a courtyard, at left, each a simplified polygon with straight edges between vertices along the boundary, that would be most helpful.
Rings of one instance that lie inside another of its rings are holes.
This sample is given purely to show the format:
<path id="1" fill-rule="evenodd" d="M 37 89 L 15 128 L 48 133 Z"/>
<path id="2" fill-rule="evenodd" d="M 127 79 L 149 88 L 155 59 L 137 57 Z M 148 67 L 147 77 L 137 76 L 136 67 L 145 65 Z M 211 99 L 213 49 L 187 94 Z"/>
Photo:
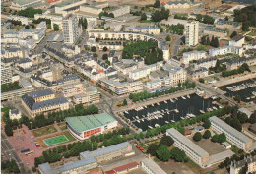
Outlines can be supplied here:
<path id="1" fill-rule="evenodd" d="M 69 109 L 68 100 L 64 97 L 56 98 L 50 89 L 23 95 L 22 104 L 32 117 L 42 113 Z"/>

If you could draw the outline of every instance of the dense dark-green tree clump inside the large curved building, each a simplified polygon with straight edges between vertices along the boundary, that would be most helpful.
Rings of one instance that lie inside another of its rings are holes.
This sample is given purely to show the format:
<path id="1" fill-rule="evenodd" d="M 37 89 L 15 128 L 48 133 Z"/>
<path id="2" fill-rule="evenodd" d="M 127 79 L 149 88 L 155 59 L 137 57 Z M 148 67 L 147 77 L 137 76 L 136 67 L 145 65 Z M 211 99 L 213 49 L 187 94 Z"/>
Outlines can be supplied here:
<path id="1" fill-rule="evenodd" d="M 162 50 L 158 48 L 158 43 L 152 39 L 148 41 L 138 40 L 124 46 L 123 59 L 133 59 L 135 55 L 143 57 L 147 65 L 163 60 Z"/>

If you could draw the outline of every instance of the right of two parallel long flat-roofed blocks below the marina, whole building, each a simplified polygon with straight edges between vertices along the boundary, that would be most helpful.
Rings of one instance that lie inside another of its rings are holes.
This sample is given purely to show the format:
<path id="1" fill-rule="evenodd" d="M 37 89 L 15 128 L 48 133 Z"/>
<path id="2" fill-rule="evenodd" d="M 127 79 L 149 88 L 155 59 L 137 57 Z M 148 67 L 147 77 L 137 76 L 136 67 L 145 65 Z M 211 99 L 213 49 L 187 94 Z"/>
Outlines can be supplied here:
<path id="1" fill-rule="evenodd" d="M 213 128 L 213 130 L 216 131 L 218 134 L 224 133 L 227 141 L 229 141 L 231 144 L 246 151 L 252 147 L 253 142 L 250 138 L 237 131 L 230 125 L 226 124 L 220 118 L 213 116 L 210 117 L 209 120 L 211 122 L 211 127 Z"/>

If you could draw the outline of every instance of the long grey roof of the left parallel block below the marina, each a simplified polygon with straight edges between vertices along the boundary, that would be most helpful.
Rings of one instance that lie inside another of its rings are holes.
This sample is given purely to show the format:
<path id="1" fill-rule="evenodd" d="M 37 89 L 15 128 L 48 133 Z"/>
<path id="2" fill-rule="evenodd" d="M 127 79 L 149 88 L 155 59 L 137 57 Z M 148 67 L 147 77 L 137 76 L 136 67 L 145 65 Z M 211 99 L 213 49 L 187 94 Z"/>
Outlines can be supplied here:
<path id="1" fill-rule="evenodd" d="M 202 157 L 202 156 L 209 155 L 209 153 L 206 152 L 203 148 L 201 148 L 200 146 L 196 145 L 195 143 L 187 139 L 176 129 L 170 128 L 167 130 L 167 133 L 171 135 L 171 137 L 175 137 L 176 139 L 178 139 L 180 142 L 182 142 L 183 145 L 186 145 L 191 151 L 194 151 L 194 153 L 198 154 L 199 156 Z"/>

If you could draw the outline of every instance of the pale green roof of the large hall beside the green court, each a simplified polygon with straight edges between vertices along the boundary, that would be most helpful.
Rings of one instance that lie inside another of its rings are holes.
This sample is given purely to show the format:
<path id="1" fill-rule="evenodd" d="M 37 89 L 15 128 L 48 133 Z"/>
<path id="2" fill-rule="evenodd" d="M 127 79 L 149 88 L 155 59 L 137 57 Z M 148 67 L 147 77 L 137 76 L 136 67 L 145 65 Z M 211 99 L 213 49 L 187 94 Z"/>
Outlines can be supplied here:
<path id="1" fill-rule="evenodd" d="M 67 124 L 78 133 L 94 129 L 114 121 L 115 119 L 107 113 L 66 118 Z"/>

